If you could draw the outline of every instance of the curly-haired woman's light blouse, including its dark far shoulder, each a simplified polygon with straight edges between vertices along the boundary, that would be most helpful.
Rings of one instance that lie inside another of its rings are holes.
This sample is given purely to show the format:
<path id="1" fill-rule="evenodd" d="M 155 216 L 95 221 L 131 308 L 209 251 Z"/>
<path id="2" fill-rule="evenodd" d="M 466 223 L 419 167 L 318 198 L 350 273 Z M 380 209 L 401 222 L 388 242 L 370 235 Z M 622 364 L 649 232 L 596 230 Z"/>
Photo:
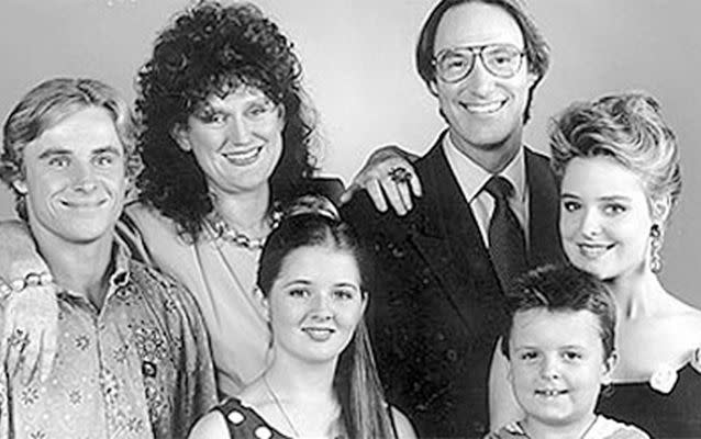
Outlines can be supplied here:
<path id="1" fill-rule="evenodd" d="M 336 202 L 338 179 L 312 179 L 294 189 L 299 195 L 320 193 Z M 120 233 L 143 258 L 182 282 L 194 295 L 210 336 L 216 385 L 222 396 L 236 395 L 268 364 L 270 334 L 254 297 L 260 250 L 218 238 L 205 227 L 192 244 L 176 225 L 143 204 L 127 206 Z"/>

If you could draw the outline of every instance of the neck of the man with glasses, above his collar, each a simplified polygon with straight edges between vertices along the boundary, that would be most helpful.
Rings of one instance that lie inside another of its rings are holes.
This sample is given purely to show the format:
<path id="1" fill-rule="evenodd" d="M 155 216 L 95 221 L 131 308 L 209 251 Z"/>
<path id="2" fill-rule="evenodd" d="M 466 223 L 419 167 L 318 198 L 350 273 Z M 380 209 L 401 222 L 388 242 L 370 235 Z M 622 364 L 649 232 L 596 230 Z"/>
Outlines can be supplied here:
<path id="1" fill-rule="evenodd" d="M 501 172 L 519 154 L 519 148 L 523 145 L 521 133 L 522 128 L 514 131 L 509 137 L 498 144 L 476 146 L 460 137 L 453 130 L 448 131 L 450 140 L 457 149 L 492 175 Z"/>

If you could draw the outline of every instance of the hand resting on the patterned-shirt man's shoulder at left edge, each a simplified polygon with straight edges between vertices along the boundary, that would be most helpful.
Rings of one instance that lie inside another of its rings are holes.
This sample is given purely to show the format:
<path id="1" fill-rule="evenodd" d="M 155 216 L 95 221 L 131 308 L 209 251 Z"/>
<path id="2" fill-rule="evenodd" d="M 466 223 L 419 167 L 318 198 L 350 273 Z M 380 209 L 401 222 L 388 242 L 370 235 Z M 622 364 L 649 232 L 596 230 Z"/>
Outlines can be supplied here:
<path id="1" fill-rule="evenodd" d="M 20 285 L 21 282 L 21 285 Z M 31 273 L 11 283 L 0 281 L 4 296 L 4 326 L 0 360 L 10 376 L 21 373 L 29 383 L 36 373 L 45 381 L 51 373 L 58 337 L 58 302 L 51 275 Z"/>

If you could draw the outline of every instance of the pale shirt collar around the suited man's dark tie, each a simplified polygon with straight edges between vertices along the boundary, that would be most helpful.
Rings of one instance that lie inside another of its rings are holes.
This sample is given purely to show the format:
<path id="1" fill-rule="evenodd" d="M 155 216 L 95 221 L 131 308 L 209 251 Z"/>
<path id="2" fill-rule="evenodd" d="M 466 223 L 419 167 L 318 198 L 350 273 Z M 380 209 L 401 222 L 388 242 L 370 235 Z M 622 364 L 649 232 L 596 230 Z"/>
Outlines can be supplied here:
<path id="1" fill-rule="evenodd" d="M 450 139 L 450 135 L 446 133 L 443 136 L 443 150 L 453 168 L 455 178 L 463 188 L 463 192 L 468 202 L 472 202 L 487 184 L 492 175 L 481 166 L 477 165 L 472 159 L 460 153 Z M 519 148 L 515 157 L 499 172 L 499 176 L 511 182 L 514 189 L 514 196 L 520 202 L 525 201 L 526 179 L 525 179 L 525 155 L 523 148 Z"/>

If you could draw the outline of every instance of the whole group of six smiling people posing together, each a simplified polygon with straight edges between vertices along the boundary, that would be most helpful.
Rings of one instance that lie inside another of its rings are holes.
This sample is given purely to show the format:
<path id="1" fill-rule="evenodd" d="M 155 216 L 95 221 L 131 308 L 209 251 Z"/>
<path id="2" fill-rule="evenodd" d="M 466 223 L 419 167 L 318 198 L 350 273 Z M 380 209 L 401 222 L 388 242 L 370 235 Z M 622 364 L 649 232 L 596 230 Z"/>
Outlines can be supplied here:
<path id="1" fill-rule="evenodd" d="M 439 0 L 416 69 L 447 127 L 346 192 L 253 4 L 178 13 L 134 111 L 34 87 L 2 133 L 0 438 L 701 437 L 701 311 L 658 278 L 675 134 L 622 92 L 534 151 L 548 65 L 518 0 Z"/>

